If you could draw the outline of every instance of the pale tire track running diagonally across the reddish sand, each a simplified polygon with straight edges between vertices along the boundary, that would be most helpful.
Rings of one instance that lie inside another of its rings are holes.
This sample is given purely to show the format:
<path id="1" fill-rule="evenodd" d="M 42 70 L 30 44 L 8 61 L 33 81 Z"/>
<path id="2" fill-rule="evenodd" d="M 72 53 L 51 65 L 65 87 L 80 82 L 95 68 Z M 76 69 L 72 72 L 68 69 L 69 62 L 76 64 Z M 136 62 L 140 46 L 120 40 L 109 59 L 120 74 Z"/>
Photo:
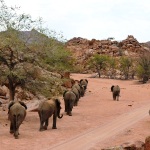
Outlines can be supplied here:
<path id="1" fill-rule="evenodd" d="M 49 150 L 89 150 L 95 144 L 108 140 L 126 128 L 148 116 L 149 106 L 134 109 L 132 112 L 120 115 L 116 119 L 96 127 L 93 130 L 79 134 L 70 140 L 59 143 Z"/>

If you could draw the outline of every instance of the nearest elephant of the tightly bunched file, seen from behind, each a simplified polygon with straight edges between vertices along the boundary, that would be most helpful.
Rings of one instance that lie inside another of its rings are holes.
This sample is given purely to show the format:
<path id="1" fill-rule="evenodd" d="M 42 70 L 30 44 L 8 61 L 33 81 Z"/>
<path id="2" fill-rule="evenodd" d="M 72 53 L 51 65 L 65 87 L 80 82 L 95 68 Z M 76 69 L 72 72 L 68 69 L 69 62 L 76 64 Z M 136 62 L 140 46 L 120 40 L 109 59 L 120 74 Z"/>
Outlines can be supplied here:
<path id="1" fill-rule="evenodd" d="M 72 90 L 65 91 L 63 93 L 65 112 L 67 115 L 72 116 L 72 109 L 76 101 L 76 94 Z"/>

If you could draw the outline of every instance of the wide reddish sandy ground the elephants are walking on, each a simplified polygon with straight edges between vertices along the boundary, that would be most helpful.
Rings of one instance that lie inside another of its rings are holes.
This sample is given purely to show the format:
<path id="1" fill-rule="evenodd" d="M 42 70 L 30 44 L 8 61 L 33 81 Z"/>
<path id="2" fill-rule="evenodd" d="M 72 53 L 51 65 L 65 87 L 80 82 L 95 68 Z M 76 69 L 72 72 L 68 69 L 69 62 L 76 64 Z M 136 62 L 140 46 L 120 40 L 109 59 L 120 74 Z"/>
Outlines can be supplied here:
<path id="1" fill-rule="evenodd" d="M 150 84 L 137 81 L 89 78 L 73 74 L 74 79 L 87 78 L 88 89 L 73 108 L 73 116 L 62 113 L 57 130 L 52 130 L 52 118 L 47 131 L 39 132 L 37 112 L 28 112 L 21 125 L 19 139 L 9 134 L 6 112 L 0 112 L 0 149 L 2 150 L 100 150 L 127 141 L 143 140 L 150 134 Z M 110 87 L 121 87 L 119 101 L 112 100 Z M 144 129 L 144 130 L 143 130 Z"/>

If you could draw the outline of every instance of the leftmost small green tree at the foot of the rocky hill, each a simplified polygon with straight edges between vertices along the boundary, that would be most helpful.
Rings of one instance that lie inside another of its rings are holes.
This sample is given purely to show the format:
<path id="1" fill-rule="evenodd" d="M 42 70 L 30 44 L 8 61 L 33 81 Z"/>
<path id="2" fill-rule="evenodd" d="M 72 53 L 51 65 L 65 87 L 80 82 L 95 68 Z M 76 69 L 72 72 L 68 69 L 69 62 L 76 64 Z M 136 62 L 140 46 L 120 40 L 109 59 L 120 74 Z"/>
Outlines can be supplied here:
<path id="1" fill-rule="evenodd" d="M 105 70 L 107 67 L 108 56 L 95 54 L 89 60 L 90 67 L 94 67 L 97 70 L 99 78 L 101 77 L 101 70 Z"/>

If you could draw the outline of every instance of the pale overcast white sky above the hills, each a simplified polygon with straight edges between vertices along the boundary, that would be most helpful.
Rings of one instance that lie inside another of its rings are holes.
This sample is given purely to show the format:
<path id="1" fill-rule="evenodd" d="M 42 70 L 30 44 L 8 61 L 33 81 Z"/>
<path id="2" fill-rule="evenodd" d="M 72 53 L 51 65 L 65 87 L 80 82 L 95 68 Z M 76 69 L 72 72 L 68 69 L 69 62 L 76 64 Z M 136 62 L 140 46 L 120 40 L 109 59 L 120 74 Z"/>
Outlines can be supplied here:
<path id="1" fill-rule="evenodd" d="M 74 37 L 117 41 L 133 35 L 139 42 L 150 41 L 150 0 L 4 0 L 7 6 L 20 6 L 20 12 L 66 40 Z"/>

